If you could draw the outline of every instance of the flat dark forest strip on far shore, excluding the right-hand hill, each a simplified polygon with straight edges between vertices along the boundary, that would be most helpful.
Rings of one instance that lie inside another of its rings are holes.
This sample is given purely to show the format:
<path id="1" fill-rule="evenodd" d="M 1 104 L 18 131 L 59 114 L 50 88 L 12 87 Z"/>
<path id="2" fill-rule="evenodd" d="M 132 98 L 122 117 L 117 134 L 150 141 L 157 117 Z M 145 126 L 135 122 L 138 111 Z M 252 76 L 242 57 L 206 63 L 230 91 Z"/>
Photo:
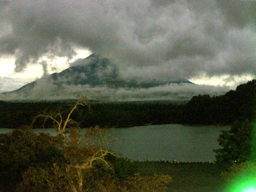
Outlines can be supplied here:
<path id="1" fill-rule="evenodd" d="M 30 125 L 33 118 L 44 112 L 66 114 L 71 104 L 60 102 L 0 102 L 0 127 L 17 128 Z M 143 124 L 180 123 L 182 107 L 170 102 L 122 102 L 122 103 L 92 103 L 90 110 L 80 106 L 72 114 L 72 119 L 86 128 L 99 125 L 101 127 L 129 127 Z M 45 127 L 52 127 L 52 122 L 46 121 Z M 35 127 L 42 128 L 43 122 L 36 122 Z"/>

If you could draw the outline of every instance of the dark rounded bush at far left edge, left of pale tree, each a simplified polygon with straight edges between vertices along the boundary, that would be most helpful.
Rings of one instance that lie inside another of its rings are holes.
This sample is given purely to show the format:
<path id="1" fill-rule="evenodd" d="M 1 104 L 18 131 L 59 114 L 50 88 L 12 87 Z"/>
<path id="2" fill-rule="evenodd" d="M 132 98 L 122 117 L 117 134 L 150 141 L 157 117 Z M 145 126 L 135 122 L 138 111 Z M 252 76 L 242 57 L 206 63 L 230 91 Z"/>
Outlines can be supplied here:
<path id="1" fill-rule="evenodd" d="M 0 178 L 12 186 L 29 167 L 48 167 L 62 158 L 58 143 L 45 133 L 15 129 L 0 137 Z"/>

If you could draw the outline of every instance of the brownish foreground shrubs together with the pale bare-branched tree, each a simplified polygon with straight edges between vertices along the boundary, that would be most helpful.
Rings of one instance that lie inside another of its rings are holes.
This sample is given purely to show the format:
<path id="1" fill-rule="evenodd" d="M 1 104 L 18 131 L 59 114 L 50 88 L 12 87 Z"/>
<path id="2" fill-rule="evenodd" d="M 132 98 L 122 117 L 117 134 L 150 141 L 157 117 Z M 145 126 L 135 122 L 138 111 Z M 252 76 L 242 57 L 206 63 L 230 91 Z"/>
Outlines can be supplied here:
<path id="1" fill-rule="evenodd" d="M 70 116 L 40 114 L 36 118 L 52 120 L 58 136 L 35 134 L 17 129 L 0 137 L 2 186 L 21 192 L 156 192 L 164 191 L 171 181 L 168 175 L 143 177 L 136 166 L 106 148 L 106 130 L 98 126 L 81 135 L 79 125 Z M 6 188 L 7 189 L 7 188 Z M 7 189 L 10 190 L 10 189 Z"/>

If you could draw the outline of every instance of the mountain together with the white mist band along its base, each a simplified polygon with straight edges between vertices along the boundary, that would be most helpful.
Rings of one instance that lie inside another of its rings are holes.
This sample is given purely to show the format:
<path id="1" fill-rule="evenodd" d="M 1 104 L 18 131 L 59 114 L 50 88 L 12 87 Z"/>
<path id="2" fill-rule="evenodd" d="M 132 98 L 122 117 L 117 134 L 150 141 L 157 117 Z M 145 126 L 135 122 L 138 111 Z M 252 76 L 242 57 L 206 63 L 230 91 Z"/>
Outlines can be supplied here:
<path id="1" fill-rule="evenodd" d="M 21 88 L 4 92 L 2 100 L 72 99 L 88 94 L 110 101 L 188 100 L 195 94 L 222 94 L 227 87 L 198 86 L 184 78 L 122 78 L 110 59 L 92 54 L 60 73 L 53 73 Z"/>

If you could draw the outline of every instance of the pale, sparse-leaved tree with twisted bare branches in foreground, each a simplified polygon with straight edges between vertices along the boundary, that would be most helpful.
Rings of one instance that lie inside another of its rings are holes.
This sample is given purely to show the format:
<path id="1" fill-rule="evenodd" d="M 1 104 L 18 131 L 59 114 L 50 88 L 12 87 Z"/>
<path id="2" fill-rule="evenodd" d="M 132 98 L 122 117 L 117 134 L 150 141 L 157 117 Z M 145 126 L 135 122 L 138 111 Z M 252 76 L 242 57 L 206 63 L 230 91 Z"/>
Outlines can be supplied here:
<path id="1" fill-rule="evenodd" d="M 80 134 L 78 123 L 71 119 L 74 110 L 78 110 L 78 106 L 87 106 L 90 109 L 90 104 L 86 102 L 88 96 L 83 96 L 74 104 L 68 112 L 66 118 L 60 113 L 46 114 L 46 111 L 34 118 L 34 122 L 38 118 L 43 118 L 44 123 L 50 119 L 54 122 L 59 134 L 64 140 L 62 145 L 64 157 L 68 164 L 66 166 L 66 174 L 70 174 L 72 170 L 76 170 L 76 178 L 70 179 L 69 184 L 73 192 L 82 192 L 84 181 L 83 171 L 93 167 L 93 162 L 100 161 L 110 169 L 110 164 L 105 160 L 106 155 L 111 154 L 116 156 L 108 149 L 108 135 L 106 130 L 100 129 L 99 126 L 92 127 L 87 130 L 85 135 Z M 57 166 L 54 164 L 54 166 Z"/>

